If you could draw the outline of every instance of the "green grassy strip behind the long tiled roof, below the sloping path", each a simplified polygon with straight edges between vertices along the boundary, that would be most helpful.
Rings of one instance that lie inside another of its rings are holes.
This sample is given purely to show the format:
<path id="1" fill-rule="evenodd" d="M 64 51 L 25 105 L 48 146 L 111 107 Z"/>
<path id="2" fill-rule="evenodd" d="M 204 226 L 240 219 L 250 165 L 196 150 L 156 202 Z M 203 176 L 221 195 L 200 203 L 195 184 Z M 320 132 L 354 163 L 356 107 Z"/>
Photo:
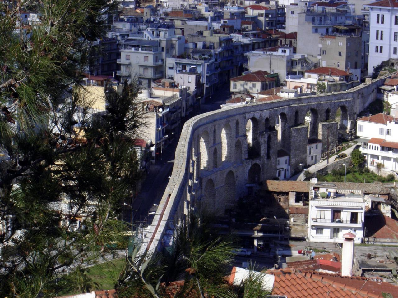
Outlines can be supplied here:
<path id="1" fill-rule="evenodd" d="M 328 181 L 328 182 L 344 182 L 344 167 L 340 170 L 333 170 L 327 175 L 318 175 L 318 181 Z M 345 177 L 346 182 L 392 182 L 393 177 L 383 177 L 377 175 L 375 172 L 369 172 L 367 170 L 358 170 L 355 168 L 347 167 L 347 174 Z"/>

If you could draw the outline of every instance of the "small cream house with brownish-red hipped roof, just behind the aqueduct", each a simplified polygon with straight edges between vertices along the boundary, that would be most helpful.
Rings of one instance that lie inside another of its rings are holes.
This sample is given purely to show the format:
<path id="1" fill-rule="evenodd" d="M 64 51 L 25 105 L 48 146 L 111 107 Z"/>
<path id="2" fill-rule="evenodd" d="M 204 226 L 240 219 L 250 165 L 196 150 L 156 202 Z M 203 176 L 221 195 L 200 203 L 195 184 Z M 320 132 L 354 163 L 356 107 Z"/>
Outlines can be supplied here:
<path id="1" fill-rule="evenodd" d="M 233 77 L 230 81 L 230 91 L 259 93 L 275 87 L 276 79 L 268 77 L 269 72 L 258 70 L 256 72 Z"/>

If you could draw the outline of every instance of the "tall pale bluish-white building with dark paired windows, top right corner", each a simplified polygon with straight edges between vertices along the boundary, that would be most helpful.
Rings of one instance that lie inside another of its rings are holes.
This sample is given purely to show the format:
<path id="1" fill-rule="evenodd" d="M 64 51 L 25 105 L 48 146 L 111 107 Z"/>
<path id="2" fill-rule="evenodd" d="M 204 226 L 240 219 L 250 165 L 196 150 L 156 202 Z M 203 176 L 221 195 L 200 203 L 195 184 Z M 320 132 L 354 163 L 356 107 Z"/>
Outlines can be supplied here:
<path id="1" fill-rule="evenodd" d="M 398 3 L 382 0 L 365 7 L 370 20 L 368 75 L 372 75 L 381 62 L 398 58 Z"/>

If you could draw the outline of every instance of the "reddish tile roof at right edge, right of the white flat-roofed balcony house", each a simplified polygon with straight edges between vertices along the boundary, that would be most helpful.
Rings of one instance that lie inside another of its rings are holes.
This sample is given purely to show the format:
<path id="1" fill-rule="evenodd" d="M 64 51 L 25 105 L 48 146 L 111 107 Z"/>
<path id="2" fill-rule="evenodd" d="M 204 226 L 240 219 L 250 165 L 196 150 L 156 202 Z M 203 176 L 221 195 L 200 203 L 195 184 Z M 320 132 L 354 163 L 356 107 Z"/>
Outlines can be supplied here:
<path id="1" fill-rule="evenodd" d="M 365 222 L 366 237 L 398 240 L 398 221 L 382 214 L 373 216 Z"/>

